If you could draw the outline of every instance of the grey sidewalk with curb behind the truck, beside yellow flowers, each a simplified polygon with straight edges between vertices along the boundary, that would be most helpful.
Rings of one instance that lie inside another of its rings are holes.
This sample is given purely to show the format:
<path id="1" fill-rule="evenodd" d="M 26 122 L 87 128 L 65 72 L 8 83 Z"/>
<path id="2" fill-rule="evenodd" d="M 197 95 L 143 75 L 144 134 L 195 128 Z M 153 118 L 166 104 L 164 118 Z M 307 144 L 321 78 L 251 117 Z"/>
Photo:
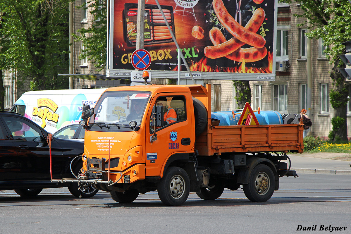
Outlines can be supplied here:
<path id="1" fill-rule="evenodd" d="M 329 154 L 326 155 L 328 158 L 335 156 L 333 153 L 326 154 Z M 288 154 L 291 159 L 291 170 L 297 173 L 351 175 L 351 161 L 317 158 L 320 156 L 313 154 L 298 155 Z"/>

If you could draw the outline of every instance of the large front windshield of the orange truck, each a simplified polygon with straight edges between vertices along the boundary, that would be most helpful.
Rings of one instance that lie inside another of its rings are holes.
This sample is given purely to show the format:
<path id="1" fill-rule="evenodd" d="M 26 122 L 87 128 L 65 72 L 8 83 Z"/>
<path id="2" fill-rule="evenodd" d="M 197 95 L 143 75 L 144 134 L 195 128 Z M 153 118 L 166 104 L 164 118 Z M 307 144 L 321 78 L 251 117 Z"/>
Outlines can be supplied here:
<path id="1" fill-rule="evenodd" d="M 136 121 L 140 125 L 150 96 L 150 92 L 143 91 L 105 92 L 97 101 L 94 108 L 95 119 L 90 122 L 114 123 L 113 126 L 118 126 Z"/>

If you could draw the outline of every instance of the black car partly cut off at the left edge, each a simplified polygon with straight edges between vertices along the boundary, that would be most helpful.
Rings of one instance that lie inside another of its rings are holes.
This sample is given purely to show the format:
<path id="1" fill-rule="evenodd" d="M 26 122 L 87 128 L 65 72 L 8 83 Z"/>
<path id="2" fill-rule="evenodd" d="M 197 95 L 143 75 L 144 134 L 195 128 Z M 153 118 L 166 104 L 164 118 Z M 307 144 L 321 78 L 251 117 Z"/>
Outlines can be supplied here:
<path id="1" fill-rule="evenodd" d="M 24 116 L 0 111 L 0 190 L 14 189 L 20 196 L 38 195 L 43 188 L 68 187 L 76 197 L 88 198 L 98 190 L 78 183 L 52 183 L 48 132 Z M 78 175 L 84 142 L 52 137 L 53 179 Z M 72 162 L 72 159 L 77 157 Z"/>

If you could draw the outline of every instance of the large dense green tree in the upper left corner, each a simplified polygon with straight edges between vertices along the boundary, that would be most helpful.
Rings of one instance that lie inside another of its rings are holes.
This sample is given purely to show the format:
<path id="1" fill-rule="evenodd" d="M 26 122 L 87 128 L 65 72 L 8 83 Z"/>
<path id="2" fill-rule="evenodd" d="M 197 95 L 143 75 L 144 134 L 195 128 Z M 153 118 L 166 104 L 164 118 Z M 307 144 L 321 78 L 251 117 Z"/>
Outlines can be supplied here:
<path id="1" fill-rule="evenodd" d="M 67 88 L 68 0 L 0 0 L 0 69 L 16 69 L 31 90 Z"/>

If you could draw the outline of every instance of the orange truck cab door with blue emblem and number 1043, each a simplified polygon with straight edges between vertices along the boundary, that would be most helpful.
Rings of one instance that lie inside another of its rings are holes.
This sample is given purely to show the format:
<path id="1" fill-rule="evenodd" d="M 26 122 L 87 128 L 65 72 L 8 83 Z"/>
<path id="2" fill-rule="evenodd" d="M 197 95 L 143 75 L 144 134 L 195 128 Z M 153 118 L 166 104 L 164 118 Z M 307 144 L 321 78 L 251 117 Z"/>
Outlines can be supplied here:
<path id="1" fill-rule="evenodd" d="M 152 106 L 164 106 L 164 126 L 156 128 L 157 138 L 151 142 L 153 136 Z M 190 152 L 192 142 L 190 107 L 186 105 L 185 94 L 167 93 L 155 95 L 148 111 L 146 127 L 146 176 L 159 176 L 161 168 L 170 155 Z"/>

